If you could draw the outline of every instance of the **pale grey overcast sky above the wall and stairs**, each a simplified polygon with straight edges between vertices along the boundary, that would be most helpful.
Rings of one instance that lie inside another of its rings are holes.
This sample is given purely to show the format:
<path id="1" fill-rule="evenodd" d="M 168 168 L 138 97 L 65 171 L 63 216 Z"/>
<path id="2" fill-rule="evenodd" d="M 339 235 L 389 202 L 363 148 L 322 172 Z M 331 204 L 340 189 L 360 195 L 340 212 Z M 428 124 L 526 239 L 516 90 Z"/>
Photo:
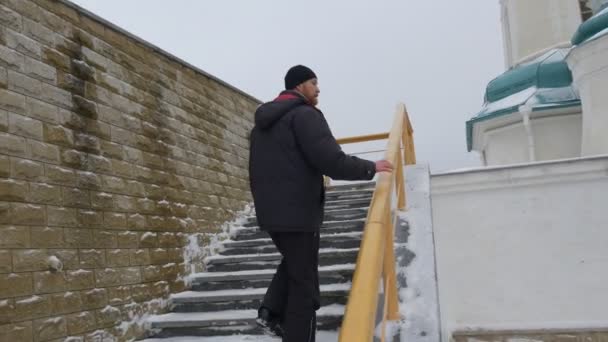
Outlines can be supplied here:
<path id="1" fill-rule="evenodd" d="M 263 101 L 290 66 L 309 66 L 336 137 L 388 131 L 404 102 L 419 162 L 479 164 L 465 121 L 504 71 L 498 0 L 74 2 Z"/>

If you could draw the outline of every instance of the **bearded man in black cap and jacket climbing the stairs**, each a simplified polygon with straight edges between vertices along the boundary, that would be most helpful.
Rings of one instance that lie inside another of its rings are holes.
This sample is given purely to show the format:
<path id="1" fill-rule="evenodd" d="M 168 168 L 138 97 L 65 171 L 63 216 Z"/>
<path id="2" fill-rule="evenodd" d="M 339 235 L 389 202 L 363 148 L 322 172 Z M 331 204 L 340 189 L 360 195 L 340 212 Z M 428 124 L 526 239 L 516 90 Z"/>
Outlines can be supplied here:
<path id="1" fill-rule="evenodd" d="M 319 295 L 319 230 L 323 223 L 323 175 L 371 180 L 392 170 L 346 155 L 318 104 L 317 76 L 297 65 L 285 76 L 285 91 L 255 113 L 249 176 L 258 224 L 283 256 L 262 306 L 258 324 L 288 342 L 315 340 Z"/>

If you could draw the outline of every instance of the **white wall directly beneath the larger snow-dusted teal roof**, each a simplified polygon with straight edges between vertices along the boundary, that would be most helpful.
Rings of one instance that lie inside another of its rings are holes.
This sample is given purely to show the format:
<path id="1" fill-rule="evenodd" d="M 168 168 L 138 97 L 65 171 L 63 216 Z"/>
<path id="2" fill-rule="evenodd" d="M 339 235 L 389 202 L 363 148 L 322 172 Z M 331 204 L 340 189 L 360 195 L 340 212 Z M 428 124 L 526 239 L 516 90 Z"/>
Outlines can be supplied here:
<path id="1" fill-rule="evenodd" d="M 481 148 L 487 166 L 576 158 L 581 155 L 580 108 L 533 112 L 531 116 L 534 160 L 530 157 L 528 133 L 519 113 L 511 114 L 510 120 L 494 119 L 478 124 L 476 129 L 483 142 Z"/>

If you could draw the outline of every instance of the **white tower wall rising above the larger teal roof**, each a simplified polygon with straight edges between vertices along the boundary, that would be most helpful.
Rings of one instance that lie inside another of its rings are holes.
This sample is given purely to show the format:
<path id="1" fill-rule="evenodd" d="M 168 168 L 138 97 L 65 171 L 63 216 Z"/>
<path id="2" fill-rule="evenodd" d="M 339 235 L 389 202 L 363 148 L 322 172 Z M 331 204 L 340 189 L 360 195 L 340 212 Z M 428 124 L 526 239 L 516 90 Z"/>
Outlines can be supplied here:
<path id="1" fill-rule="evenodd" d="M 581 24 L 578 0 L 501 0 L 507 67 L 544 48 L 569 41 Z"/>

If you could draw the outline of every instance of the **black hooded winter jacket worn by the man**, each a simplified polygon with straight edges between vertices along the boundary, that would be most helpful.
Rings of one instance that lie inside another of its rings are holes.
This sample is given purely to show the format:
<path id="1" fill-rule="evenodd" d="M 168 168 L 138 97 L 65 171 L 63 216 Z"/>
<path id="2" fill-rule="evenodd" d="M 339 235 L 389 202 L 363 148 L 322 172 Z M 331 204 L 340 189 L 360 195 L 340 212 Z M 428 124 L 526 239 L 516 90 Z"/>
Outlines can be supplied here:
<path id="1" fill-rule="evenodd" d="M 249 178 L 258 223 L 267 231 L 318 231 L 323 223 L 323 175 L 370 180 L 375 163 L 346 155 L 323 113 L 285 91 L 255 113 Z"/>

